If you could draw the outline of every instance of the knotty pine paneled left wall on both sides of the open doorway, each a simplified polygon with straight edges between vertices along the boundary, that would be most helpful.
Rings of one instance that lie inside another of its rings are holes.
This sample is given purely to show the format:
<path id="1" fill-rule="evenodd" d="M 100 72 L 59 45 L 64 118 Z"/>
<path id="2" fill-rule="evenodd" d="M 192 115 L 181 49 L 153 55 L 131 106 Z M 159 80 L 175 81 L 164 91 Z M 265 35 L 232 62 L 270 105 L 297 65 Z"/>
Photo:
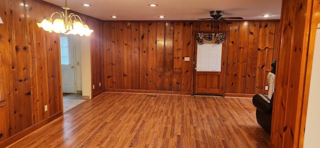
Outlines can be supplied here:
<path id="1" fill-rule="evenodd" d="M 0 4 L 0 147 L 62 115 L 60 40 L 36 22 L 61 7 L 42 0 Z M 93 96 L 103 92 L 102 21 L 80 15 L 91 34 Z M 47 105 L 47 111 L 44 111 Z"/>

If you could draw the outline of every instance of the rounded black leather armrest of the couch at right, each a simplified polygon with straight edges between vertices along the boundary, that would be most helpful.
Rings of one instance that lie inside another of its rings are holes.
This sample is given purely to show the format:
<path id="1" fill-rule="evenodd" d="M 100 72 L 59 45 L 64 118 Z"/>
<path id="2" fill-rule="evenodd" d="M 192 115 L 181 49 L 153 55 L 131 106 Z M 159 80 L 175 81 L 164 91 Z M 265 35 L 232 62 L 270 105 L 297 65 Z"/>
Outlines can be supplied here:
<path id="1" fill-rule="evenodd" d="M 270 106 L 270 98 L 266 97 L 263 94 L 255 94 L 252 97 L 252 103 L 256 109 L 264 113 L 271 113 L 272 107 Z"/>

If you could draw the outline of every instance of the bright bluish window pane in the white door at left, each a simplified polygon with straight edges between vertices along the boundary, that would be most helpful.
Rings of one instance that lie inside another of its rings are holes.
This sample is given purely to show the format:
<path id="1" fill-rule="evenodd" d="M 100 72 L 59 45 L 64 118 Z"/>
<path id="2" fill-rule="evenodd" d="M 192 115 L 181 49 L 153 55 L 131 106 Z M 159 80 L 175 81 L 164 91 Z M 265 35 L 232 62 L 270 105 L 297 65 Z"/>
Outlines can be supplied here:
<path id="1" fill-rule="evenodd" d="M 61 53 L 61 64 L 62 65 L 70 64 L 68 37 L 62 33 L 60 35 L 60 53 Z"/>

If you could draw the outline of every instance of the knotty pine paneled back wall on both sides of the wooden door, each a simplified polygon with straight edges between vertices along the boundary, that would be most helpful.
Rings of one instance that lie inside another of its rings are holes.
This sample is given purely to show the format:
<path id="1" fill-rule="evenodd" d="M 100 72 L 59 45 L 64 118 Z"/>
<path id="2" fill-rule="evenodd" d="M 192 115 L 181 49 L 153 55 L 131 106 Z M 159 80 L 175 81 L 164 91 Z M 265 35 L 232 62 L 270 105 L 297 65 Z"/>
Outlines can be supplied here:
<path id="1" fill-rule="evenodd" d="M 192 93 L 194 32 L 227 32 L 224 92 L 267 93 L 278 20 L 105 21 L 105 90 Z M 184 61 L 190 57 L 190 61 Z M 153 90 L 153 91 L 152 91 Z"/>

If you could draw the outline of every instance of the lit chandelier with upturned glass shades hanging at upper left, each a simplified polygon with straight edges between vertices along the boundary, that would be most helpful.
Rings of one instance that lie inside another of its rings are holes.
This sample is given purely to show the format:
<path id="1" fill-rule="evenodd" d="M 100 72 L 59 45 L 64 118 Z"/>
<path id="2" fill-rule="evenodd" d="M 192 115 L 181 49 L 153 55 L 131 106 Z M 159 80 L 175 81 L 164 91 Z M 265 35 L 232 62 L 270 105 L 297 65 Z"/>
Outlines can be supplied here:
<path id="1" fill-rule="evenodd" d="M 36 23 L 38 27 L 42 27 L 48 32 L 53 31 L 64 34 L 78 34 L 80 36 L 88 36 L 93 32 L 93 30 L 89 29 L 88 25 L 86 25 L 78 15 L 74 13 L 67 14 L 67 10 L 70 8 L 66 6 L 66 0 L 65 7 L 62 6 L 62 8 L 64 9 L 64 13 L 62 11 L 60 13 L 53 12 L 50 17 L 44 18 L 41 23 Z M 52 16 L 54 14 L 58 14 L 59 16 L 53 20 Z"/>

